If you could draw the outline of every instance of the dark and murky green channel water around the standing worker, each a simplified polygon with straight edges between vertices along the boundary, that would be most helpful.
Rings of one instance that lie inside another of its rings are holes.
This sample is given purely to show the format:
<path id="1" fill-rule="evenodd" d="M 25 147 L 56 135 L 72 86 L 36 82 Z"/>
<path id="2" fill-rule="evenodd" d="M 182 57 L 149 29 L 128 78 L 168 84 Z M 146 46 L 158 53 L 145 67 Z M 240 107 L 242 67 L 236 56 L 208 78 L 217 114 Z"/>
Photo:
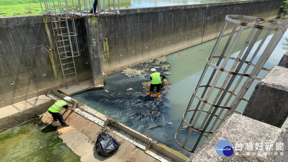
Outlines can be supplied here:
<path id="1" fill-rule="evenodd" d="M 249 32 L 250 29 L 245 29 L 242 35 L 247 37 Z M 264 47 L 268 44 L 271 37 L 272 35 L 268 36 L 263 45 Z M 287 43 L 285 37 L 288 38 L 288 32 L 285 33 L 264 67 L 271 68 L 278 64 L 282 55 L 286 52 L 286 49 L 282 48 L 282 43 Z M 222 38 L 223 41 L 220 42 L 219 46 L 224 46 L 227 39 L 228 36 L 224 36 L 224 38 Z M 240 41 L 243 43 L 244 40 L 245 37 L 240 38 Z M 127 77 L 121 73 L 108 76 L 108 84 L 105 85 L 102 90 L 86 91 L 73 95 L 72 97 L 106 115 L 113 117 L 124 125 L 127 125 L 142 134 L 147 134 L 152 139 L 158 141 L 158 143 L 163 143 L 182 152 L 184 155 L 189 156 L 190 153 L 183 150 L 175 142 L 174 135 L 180 125 L 193 89 L 196 87 L 202 70 L 205 67 L 206 60 L 210 55 L 215 42 L 216 40 L 211 40 L 166 56 L 167 61 L 172 63 L 171 67 L 168 68 L 168 72 L 171 74 L 166 76 L 167 80 L 171 82 L 172 87 L 162 99 L 155 100 L 155 97 L 147 98 L 146 93 L 140 91 L 142 88 L 141 82 L 148 80 L 149 74 Z M 259 43 L 260 40 L 256 44 Z M 234 50 L 235 53 L 232 57 L 235 57 L 238 54 L 241 47 L 241 45 L 236 46 Z M 253 50 L 255 49 L 252 49 L 252 51 Z M 261 50 L 263 50 L 263 48 Z M 261 50 L 259 53 L 261 53 Z M 257 57 L 259 56 L 257 55 Z M 216 61 L 217 60 L 214 60 L 213 63 Z M 229 66 L 229 64 L 231 65 L 231 62 L 228 62 L 227 66 Z M 147 67 L 153 65 L 144 64 L 143 66 Z M 143 67 L 139 66 L 134 68 L 142 69 Z M 211 73 L 212 70 L 212 68 L 209 68 L 207 73 Z M 262 77 L 266 73 L 267 71 L 261 71 L 258 76 Z M 207 80 L 208 76 L 204 78 L 204 80 L 205 79 Z M 256 81 L 253 83 L 245 95 L 245 98 L 249 99 L 256 83 Z M 132 88 L 133 90 L 127 90 L 129 88 Z M 155 95 L 155 92 L 153 95 Z M 210 98 L 213 99 L 213 96 L 215 96 L 215 94 Z M 237 110 L 243 111 L 246 104 L 245 101 L 241 101 Z M 192 107 L 193 106 L 195 106 L 195 103 L 192 104 Z M 142 116 L 141 110 L 143 109 L 148 109 L 152 114 L 156 112 L 156 114 L 151 116 Z M 204 118 L 204 115 L 201 117 Z M 197 123 L 197 125 L 199 124 L 201 123 Z M 180 137 L 184 140 L 186 134 L 180 134 Z M 197 138 L 198 134 L 192 133 L 190 140 L 188 141 L 189 145 L 191 145 L 190 147 L 193 146 Z M 181 138 L 179 139 L 179 141 L 182 141 Z M 202 138 L 201 143 L 204 140 L 205 138 Z"/>

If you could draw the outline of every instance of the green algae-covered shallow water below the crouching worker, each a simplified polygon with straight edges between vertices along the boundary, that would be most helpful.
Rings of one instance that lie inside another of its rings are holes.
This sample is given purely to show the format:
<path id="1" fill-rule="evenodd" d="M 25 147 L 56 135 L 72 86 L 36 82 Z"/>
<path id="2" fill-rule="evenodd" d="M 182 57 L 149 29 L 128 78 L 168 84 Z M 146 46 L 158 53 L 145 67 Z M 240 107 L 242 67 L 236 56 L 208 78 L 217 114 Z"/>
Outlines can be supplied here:
<path id="1" fill-rule="evenodd" d="M 80 161 L 52 125 L 36 118 L 0 133 L 0 161 Z"/>

